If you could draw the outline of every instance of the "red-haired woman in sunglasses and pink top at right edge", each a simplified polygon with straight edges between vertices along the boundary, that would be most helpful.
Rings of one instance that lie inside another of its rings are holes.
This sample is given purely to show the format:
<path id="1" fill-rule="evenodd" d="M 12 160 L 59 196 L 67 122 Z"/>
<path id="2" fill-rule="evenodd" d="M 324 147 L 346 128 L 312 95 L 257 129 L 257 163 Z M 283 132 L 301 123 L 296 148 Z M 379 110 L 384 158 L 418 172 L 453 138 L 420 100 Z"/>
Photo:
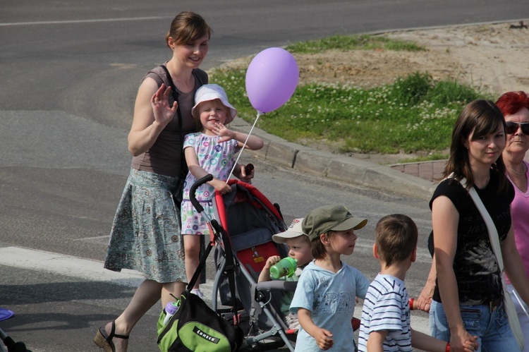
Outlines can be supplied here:
<path id="1" fill-rule="evenodd" d="M 501 155 L 507 178 L 514 186 L 514 200 L 511 203 L 514 241 L 522 258 L 525 275 L 529 275 L 529 164 L 523 160 L 529 149 L 529 95 L 526 92 L 506 92 L 499 97 L 496 105 L 504 114 L 506 123 L 506 145 Z M 525 338 L 523 351 L 529 352 L 529 317 L 523 311 L 529 310 L 527 305 L 513 294 L 513 286 L 508 277 L 506 283 Z"/>

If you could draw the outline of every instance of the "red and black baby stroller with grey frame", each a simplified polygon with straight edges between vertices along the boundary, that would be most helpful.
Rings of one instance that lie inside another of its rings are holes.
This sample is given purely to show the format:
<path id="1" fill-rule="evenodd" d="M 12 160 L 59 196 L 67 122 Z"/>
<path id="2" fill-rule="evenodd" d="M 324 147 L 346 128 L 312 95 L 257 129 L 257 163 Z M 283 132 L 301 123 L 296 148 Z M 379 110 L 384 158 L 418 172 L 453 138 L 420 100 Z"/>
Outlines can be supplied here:
<path id="1" fill-rule="evenodd" d="M 190 190 L 190 200 L 197 212 L 202 213 L 203 209 L 194 199 L 194 191 L 211 179 L 211 175 L 201 178 Z M 231 193 L 221 195 L 216 192 L 213 202 L 215 219 L 209 219 L 212 241 L 205 255 L 214 245 L 217 269 L 212 310 L 238 324 L 245 332 L 241 350 L 266 351 L 286 345 L 293 351 L 295 332 L 288 330 L 278 307 L 281 291 L 293 291 L 296 282 L 257 284 L 257 277 L 269 256 L 286 257 L 288 254 L 286 245 L 272 241 L 272 235 L 286 230 L 279 205 L 272 205 L 265 195 L 248 183 L 237 180 L 228 183 Z M 217 308 L 219 299 L 228 308 Z"/>

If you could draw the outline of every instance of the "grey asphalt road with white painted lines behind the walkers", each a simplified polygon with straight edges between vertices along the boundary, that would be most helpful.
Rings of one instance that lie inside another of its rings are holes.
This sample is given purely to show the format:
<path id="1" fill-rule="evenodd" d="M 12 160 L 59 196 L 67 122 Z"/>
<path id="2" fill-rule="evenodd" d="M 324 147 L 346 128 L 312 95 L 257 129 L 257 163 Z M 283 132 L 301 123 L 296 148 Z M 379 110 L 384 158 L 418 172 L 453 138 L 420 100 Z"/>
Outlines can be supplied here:
<path id="1" fill-rule="evenodd" d="M 100 266 L 130 165 L 135 91 L 169 58 L 163 37 L 183 10 L 201 13 L 214 30 L 204 68 L 336 33 L 529 17 L 527 1 L 2 1 L 0 307 L 16 316 L 0 327 L 32 351 L 95 351 L 97 327 L 123 310 L 138 283 L 134 273 L 111 276 Z M 370 278 L 378 270 L 370 253 L 376 220 L 413 217 L 421 239 L 407 281 L 418 294 L 429 265 L 424 200 L 242 159 L 250 161 L 255 186 L 287 221 L 331 202 L 370 219 L 347 258 Z M 129 351 L 157 351 L 158 312 L 140 321 Z"/>

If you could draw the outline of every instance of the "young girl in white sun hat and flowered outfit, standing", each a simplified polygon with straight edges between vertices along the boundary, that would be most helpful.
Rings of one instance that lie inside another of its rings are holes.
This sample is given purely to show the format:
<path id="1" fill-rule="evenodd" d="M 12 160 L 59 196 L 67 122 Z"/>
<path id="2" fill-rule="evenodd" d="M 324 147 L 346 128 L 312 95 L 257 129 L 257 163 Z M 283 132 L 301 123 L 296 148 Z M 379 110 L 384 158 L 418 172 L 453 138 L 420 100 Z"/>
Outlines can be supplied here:
<path id="1" fill-rule="evenodd" d="M 186 251 L 186 274 L 188 280 L 193 277 L 199 262 L 200 236 L 209 235 L 207 220 L 202 214 L 197 214 L 189 200 L 189 190 L 197 179 L 213 175 L 213 180 L 197 188 L 195 196 L 204 211 L 213 218 L 212 198 L 214 191 L 220 193 L 231 192 L 226 183 L 235 162 L 234 156 L 243 147 L 248 138 L 245 133 L 231 131 L 226 124 L 233 121 L 237 110 L 228 102 L 226 92 L 219 85 L 202 85 L 195 94 L 195 107 L 191 110 L 197 122 L 197 133 L 190 133 L 184 139 L 183 148 L 188 164 L 189 173 L 186 177 L 182 201 L 182 234 Z M 259 150 L 263 146 L 261 138 L 250 135 L 245 148 Z M 202 297 L 199 284 L 192 293 Z"/>

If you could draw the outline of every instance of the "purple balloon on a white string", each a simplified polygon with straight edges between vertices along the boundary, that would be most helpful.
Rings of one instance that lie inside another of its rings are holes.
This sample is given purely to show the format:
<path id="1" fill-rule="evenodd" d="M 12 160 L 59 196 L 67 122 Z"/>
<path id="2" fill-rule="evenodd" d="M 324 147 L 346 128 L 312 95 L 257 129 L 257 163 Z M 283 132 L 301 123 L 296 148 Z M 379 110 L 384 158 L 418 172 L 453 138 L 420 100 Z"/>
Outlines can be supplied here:
<path id="1" fill-rule="evenodd" d="M 274 111 L 292 97 L 298 78 L 298 63 L 288 51 L 265 49 L 253 58 L 246 71 L 248 99 L 261 113 Z"/>

